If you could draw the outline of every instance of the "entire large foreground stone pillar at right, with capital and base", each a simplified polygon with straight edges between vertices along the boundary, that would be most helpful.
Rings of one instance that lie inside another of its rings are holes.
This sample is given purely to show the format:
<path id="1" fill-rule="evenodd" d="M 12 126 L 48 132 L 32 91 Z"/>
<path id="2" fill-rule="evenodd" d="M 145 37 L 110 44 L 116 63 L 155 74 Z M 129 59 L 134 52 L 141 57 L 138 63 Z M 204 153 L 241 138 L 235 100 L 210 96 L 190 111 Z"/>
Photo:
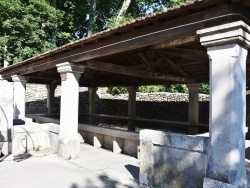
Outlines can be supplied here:
<path id="1" fill-rule="evenodd" d="M 242 21 L 198 31 L 210 58 L 210 150 L 203 187 L 247 187 L 246 57 L 250 27 Z"/>

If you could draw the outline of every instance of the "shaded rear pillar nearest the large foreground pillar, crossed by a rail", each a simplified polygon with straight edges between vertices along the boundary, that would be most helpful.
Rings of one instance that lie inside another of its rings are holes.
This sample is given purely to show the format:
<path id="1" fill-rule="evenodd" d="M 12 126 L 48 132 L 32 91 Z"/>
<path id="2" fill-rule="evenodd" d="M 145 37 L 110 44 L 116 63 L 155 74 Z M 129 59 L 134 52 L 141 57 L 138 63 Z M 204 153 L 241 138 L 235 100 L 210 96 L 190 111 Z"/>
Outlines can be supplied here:
<path id="1" fill-rule="evenodd" d="M 190 124 L 199 123 L 199 89 L 201 84 L 186 84 L 189 91 L 188 122 Z M 188 134 L 198 134 L 198 127 L 188 127 Z"/>

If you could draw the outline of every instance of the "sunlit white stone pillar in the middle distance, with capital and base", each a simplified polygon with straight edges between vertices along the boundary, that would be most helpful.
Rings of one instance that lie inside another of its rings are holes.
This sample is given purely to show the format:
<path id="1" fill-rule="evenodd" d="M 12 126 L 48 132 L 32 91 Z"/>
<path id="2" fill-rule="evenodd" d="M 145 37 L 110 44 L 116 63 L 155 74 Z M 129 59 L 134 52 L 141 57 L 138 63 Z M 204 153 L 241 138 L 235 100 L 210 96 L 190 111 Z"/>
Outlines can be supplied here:
<path id="1" fill-rule="evenodd" d="M 61 112 L 58 155 L 63 159 L 76 158 L 80 153 L 78 136 L 80 69 L 71 63 L 56 65 L 61 74 Z"/>

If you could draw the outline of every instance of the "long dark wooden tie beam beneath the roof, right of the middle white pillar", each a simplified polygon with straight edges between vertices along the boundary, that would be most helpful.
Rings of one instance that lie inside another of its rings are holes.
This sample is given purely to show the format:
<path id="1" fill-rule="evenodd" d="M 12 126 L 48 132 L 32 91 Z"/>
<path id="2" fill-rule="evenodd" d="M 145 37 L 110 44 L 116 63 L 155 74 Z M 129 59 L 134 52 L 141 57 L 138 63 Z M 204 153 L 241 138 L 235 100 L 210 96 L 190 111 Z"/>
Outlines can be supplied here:
<path id="1" fill-rule="evenodd" d="M 173 82 L 194 82 L 195 80 L 188 77 L 180 77 L 174 75 L 163 75 L 157 74 L 153 72 L 143 71 L 139 69 L 133 69 L 125 66 L 110 64 L 106 62 L 100 62 L 95 60 L 89 60 L 82 63 L 84 68 L 89 69 L 96 69 L 103 72 L 110 72 L 114 74 L 121 74 L 139 78 L 147 78 L 152 80 L 164 80 L 166 82 L 173 81 Z"/>

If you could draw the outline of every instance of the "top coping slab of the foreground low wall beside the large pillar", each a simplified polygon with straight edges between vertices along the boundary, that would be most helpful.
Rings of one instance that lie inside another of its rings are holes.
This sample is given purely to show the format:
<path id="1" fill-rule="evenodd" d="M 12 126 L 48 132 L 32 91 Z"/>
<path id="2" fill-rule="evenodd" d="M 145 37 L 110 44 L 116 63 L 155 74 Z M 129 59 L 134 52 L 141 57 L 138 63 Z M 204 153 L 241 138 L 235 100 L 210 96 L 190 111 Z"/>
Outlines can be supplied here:
<path id="1" fill-rule="evenodd" d="M 149 141 L 152 144 L 159 146 L 208 153 L 208 137 L 145 129 L 140 131 L 140 140 Z"/>

